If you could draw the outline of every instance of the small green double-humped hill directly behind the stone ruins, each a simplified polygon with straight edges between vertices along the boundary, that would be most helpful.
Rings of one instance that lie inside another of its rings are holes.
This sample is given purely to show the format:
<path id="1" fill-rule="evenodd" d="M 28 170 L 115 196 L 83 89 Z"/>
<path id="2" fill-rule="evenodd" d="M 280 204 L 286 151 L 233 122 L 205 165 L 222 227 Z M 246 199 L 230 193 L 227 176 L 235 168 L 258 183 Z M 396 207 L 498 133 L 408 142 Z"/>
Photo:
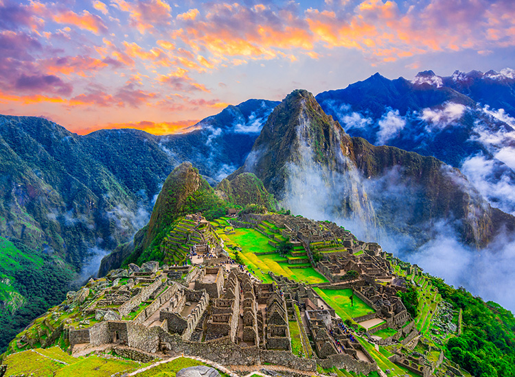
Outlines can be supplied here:
<path id="1" fill-rule="evenodd" d="M 273 195 L 255 175 L 242 173 L 232 180 L 224 179 L 215 190 L 191 162 L 183 162 L 166 178 L 148 224 L 137 232 L 133 241 L 119 245 L 102 258 L 98 274 L 105 276 L 111 269 L 128 263 L 163 260 L 163 239 L 184 215 L 203 212 L 207 219 L 212 219 L 225 215 L 229 207 L 249 205 L 269 210 L 275 210 L 276 206 Z M 182 254 L 177 258 L 183 260 Z"/>

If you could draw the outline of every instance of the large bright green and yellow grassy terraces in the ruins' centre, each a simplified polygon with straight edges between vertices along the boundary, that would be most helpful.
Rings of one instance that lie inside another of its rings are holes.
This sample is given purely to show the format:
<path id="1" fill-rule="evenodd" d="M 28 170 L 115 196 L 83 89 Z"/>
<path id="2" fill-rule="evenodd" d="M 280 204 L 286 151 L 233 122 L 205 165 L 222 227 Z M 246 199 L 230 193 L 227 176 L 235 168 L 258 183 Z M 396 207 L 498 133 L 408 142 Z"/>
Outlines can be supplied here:
<path id="1" fill-rule="evenodd" d="M 247 228 L 235 228 L 230 232 L 226 232 L 225 228 L 230 225 L 223 218 L 211 222 L 211 225 L 216 226 L 216 224 L 218 224 L 218 228 L 216 229 L 217 234 L 225 241 L 226 245 L 229 244 L 233 247 L 238 246 L 242 249 L 240 253 L 242 261 L 252 269 L 255 275 L 263 280 L 263 282 L 273 282 L 272 278 L 268 276 L 268 271 L 308 284 L 328 282 L 327 278 L 318 271 L 315 271 L 308 264 L 295 265 L 295 267 L 301 268 L 290 268 L 288 258 L 280 256 L 277 249 L 268 243 L 271 239 L 261 232 Z M 275 234 L 275 236 L 277 236 L 277 234 Z M 234 254 L 234 250 L 229 250 L 229 252 Z"/>

